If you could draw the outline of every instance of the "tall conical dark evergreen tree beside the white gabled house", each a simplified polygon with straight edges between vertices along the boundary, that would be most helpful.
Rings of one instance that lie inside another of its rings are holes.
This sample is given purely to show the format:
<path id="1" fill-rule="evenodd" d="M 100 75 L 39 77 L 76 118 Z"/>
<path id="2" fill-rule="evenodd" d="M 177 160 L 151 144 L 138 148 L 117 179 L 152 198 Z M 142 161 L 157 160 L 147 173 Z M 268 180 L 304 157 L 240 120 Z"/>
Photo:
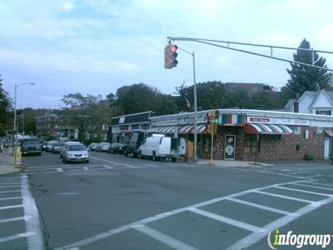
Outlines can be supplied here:
<path id="1" fill-rule="evenodd" d="M 298 48 L 311 49 L 310 43 L 307 40 L 302 40 Z M 293 53 L 293 60 L 299 63 L 312 64 L 312 51 L 298 50 Z M 319 67 L 327 67 L 325 58 L 319 57 L 317 52 L 314 52 L 314 65 Z M 325 89 L 329 87 L 330 74 L 325 69 L 318 69 L 305 65 L 291 63 L 291 69 L 287 69 L 290 79 L 282 90 L 289 94 L 289 97 L 295 98 L 295 94 L 302 95 L 305 91 L 316 91 L 317 88 Z M 317 87 L 318 86 L 318 87 Z"/>

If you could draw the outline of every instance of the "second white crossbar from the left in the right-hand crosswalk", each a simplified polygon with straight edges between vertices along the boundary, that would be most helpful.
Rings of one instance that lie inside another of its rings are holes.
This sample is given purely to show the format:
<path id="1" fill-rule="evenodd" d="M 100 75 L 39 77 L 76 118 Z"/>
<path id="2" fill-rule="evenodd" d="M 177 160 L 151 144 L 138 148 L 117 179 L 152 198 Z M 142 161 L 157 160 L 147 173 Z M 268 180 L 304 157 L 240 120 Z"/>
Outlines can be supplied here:
<path id="1" fill-rule="evenodd" d="M 248 231 L 252 231 L 252 232 L 262 231 L 262 228 L 259 228 L 258 226 L 253 226 L 253 225 L 245 223 L 245 222 L 239 222 L 236 219 L 230 219 L 228 217 L 224 217 L 224 216 L 221 216 L 221 215 L 216 215 L 214 213 L 210 213 L 210 212 L 207 212 L 205 210 L 198 209 L 198 208 L 189 208 L 187 210 L 189 210 L 192 213 L 196 213 L 198 215 L 208 217 L 210 219 L 215 219 L 219 222 L 223 222 L 223 223 L 226 223 L 226 224 L 230 224 L 232 226 L 237 226 L 239 228 L 246 229 Z"/>

